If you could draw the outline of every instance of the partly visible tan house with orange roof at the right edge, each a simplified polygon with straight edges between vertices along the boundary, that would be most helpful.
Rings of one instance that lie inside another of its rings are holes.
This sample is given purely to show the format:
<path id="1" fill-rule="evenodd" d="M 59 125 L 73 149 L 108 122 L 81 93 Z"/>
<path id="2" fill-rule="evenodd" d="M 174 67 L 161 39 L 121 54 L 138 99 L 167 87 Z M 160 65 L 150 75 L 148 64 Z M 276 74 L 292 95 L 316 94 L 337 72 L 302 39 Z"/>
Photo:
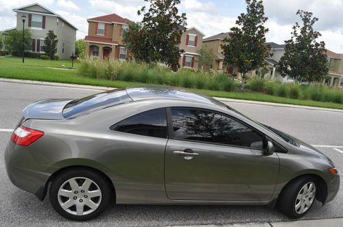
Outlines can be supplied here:
<path id="1" fill-rule="evenodd" d="M 343 87 L 343 53 L 335 53 L 326 49 L 329 64 L 329 73 L 325 77 L 324 83 L 327 86 Z"/>

